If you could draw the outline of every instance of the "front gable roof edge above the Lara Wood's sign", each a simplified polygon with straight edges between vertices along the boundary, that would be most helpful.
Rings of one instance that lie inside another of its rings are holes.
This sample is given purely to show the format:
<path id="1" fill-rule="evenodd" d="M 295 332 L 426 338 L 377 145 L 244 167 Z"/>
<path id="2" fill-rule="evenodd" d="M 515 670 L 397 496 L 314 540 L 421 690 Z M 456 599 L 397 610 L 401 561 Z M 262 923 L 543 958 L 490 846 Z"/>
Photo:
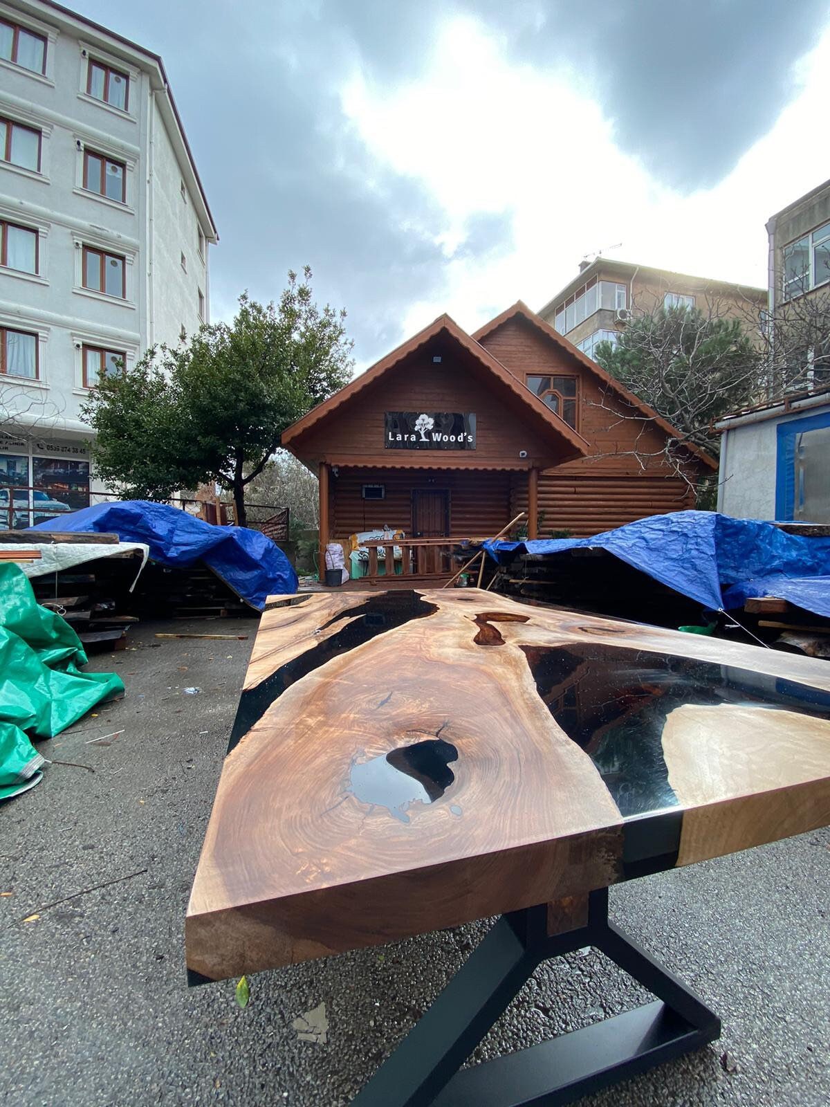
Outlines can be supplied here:
<path id="1" fill-rule="evenodd" d="M 367 387 L 381 380 L 386 373 L 400 365 L 406 358 L 421 350 L 428 342 L 435 339 L 446 339 L 455 343 L 470 356 L 480 369 L 492 380 L 494 385 L 509 393 L 513 403 L 518 402 L 522 414 L 528 422 L 548 438 L 556 436 L 559 452 L 570 457 L 583 457 L 588 453 L 588 443 L 570 427 L 563 418 L 552 412 L 547 404 L 535 395 L 523 381 L 519 381 L 505 365 L 501 364 L 488 350 L 474 341 L 458 323 L 447 314 L 439 315 L 428 327 L 425 327 L 417 334 L 397 349 L 375 362 L 370 369 L 334 395 L 324 400 L 317 407 L 313 407 L 307 415 L 292 423 L 282 432 L 282 445 L 289 449 L 299 446 L 300 439 L 312 428 L 318 427 L 326 420 L 331 418 L 344 404 L 349 404 L 361 395 Z M 564 447 L 564 448 L 563 448 Z"/>

